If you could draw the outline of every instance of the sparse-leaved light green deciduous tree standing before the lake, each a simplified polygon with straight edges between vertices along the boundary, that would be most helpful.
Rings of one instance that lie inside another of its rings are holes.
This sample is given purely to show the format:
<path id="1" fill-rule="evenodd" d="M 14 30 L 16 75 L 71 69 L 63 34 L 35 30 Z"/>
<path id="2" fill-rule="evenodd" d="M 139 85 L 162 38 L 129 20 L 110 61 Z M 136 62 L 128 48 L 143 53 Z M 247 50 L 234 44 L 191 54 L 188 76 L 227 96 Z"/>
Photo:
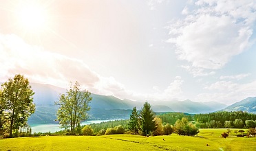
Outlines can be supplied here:
<path id="1" fill-rule="evenodd" d="M 74 86 L 70 83 L 70 90 L 66 94 L 61 94 L 57 106 L 57 119 L 61 127 L 70 128 L 70 134 L 75 135 L 75 128 L 81 121 L 87 119 L 87 111 L 90 110 L 89 102 L 92 100 L 91 93 L 81 90 L 78 82 Z"/>

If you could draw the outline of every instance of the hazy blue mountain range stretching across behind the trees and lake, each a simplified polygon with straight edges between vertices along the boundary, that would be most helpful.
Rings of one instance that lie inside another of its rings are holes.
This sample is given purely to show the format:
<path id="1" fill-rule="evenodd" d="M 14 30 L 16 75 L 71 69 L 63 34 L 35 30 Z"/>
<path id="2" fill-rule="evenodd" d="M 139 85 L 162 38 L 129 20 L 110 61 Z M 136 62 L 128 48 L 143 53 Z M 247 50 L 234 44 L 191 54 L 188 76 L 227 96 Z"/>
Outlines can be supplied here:
<path id="1" fill-rule="evenodd" d="M 57 106 L 54 102 L 58 100 L 61 93 L 65 93 L 66 89 L 52 86 L 50 84 L 32 83 L 34 90 L 34 103 L 36 104 L 36 112 L 30 117 L 30 124 L 56 123 Z M 120 100 L 114 96 L 92 94 L 91 111 L 89 111 L 89 119 L 128 119 L 131 109 L 136 106 L 138 110 L 142 108 L 145 102 L 131 101 L 128 99 Z M 184 101 L 149 101 L 155 112 L 182 112 L 182 113 L 211 113 L 215 111 L 256 111 L 256 97 L 248 97 L 242 102 L 237 102 L 231 106 L 220 104 L 218 102 L 192 102 Z"/>

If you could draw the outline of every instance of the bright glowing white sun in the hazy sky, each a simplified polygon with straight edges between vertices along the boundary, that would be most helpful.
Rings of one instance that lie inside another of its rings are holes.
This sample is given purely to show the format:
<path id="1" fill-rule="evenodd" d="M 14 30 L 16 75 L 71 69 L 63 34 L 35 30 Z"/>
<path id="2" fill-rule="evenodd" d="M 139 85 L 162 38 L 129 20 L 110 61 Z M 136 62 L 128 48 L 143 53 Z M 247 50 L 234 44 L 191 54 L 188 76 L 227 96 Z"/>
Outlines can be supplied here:
<path id="1" fill-rule="evenodd" d="M 42 5 L 22 3 L 15 12 L 17 24 L 26 32 L 41 32 L 47 27 L 47 12 Z"/>

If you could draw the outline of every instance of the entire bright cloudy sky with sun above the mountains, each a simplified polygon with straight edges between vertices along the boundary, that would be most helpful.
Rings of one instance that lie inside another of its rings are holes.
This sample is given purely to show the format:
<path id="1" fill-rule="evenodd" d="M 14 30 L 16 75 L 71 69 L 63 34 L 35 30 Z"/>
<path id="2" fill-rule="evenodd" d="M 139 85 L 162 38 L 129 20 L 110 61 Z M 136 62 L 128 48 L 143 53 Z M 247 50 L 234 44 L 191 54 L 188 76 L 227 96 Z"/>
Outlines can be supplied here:
<path id="1" fill-rule="evenodd" d="M 256 96 L 256 1 L 0 0 L 0 81 L 120 99 Z"/>

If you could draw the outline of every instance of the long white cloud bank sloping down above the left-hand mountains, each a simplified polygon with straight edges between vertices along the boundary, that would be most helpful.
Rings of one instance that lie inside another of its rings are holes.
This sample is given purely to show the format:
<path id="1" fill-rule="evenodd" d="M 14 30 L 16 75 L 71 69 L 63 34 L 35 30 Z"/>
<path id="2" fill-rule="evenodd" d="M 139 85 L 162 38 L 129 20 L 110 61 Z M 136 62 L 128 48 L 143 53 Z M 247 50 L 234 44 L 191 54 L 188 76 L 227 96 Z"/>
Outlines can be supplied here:
<path id="1" fill-rule="evenodd" d="M 92 93 L 103 95 L 114 95 L 124 89 L 114 78 L 102 77 L 89 69 L 83 60 L 28 45 L 14 34 L 0 34 L 0 54 L 1 82 L 21 73 L 29 78 L 30 82 L 53 84 L 64 88 L 70 81 L 78 81 Z"/>

